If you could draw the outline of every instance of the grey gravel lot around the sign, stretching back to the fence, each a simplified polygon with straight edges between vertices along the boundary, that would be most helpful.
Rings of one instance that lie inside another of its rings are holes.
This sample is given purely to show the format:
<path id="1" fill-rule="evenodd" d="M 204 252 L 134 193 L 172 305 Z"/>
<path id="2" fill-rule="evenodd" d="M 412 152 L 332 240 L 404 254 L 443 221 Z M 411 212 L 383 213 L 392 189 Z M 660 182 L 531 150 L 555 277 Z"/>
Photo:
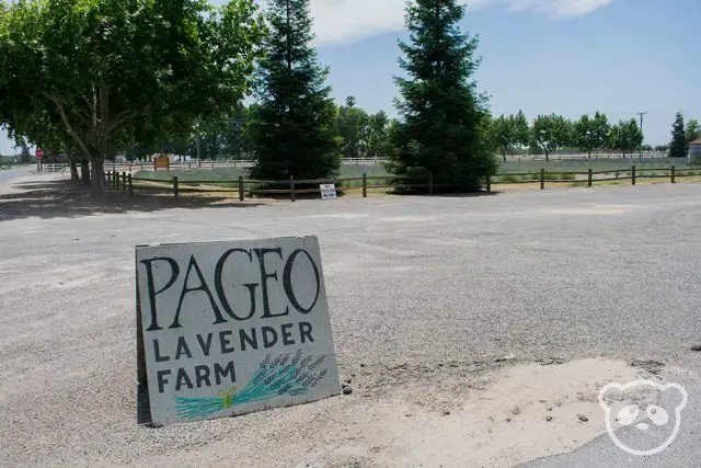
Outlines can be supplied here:
<path id="1" fill-rule="evenodd" d="M 299 453 L 265 453 L 337 422 L 341 407 L 325 400 L 137 426 L 143 243 L 319 236 L 340 374 L 365 389 L 345 409 L 444 365 L 452 381 L 552 358 L 701 372 L 690 351 L 701 343 L 701 185 L 125 208 L 56 198 L 58 179 L 0 190 L 0 465 L 176 465 L 197 454 L 195 465 L 291 466 Z M 317 447 L 332 443 L 320 437 Z M 219 458 L 222 443 L 235 459 Z M 182 458 L 162 458 L 173 453 Z"/>

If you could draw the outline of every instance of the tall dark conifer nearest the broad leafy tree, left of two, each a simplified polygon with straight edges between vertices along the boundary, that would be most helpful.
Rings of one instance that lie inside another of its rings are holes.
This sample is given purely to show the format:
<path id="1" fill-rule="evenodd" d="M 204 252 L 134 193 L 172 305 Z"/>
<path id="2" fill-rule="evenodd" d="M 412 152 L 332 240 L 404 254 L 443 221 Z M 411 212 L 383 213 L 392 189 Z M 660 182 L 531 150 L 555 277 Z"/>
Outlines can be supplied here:
<path id="1" fill-rule="evenodd" d="M 310 46 L 309 0 L 271 0 L 265 58 L 258 64 L 258 106 L 250 134 L 254 179 L 319 179 L 337 173 L 336 107 L 327 69 Z"/>

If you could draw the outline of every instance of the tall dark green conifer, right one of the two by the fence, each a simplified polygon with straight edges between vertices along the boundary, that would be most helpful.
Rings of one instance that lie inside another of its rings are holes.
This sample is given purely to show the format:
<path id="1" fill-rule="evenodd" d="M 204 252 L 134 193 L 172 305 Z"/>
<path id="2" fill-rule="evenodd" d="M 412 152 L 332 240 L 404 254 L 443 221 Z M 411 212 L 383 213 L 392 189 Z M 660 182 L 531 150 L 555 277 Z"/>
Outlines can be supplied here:
<path id="1" fill-rule="evenodd" d="M 400 43 L 399 62 L 407 78 L 395 78 L 403 122 L 389 168 L 425 183 L 433 173 L 446 190 L 478 191 L 497 162 L 486 137 L 486 98 L 473 75 L 478 38 L 458 23 L 466 9 L 456 0 L 415 0 L 406 7 L 410 43 Z"/>

